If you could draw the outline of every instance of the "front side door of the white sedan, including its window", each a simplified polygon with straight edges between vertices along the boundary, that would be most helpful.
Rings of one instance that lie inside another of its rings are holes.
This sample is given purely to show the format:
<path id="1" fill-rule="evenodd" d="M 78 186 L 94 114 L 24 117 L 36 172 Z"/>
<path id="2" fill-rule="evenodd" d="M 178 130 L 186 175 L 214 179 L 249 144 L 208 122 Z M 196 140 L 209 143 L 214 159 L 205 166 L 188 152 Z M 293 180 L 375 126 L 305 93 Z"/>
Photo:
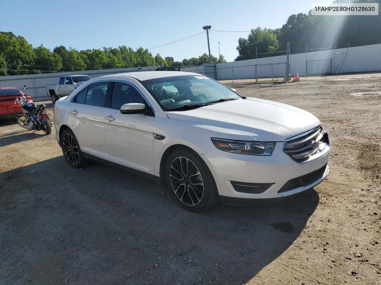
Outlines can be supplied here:
<path id="1" fill-rule="evenodd" d="M 114 82 L 109 108 L 103 112 L 104 141 L 111 161 L 154 174 L 152 125 L 154 116 L 122 114 L 126 103 L 144 103 L 142 93 L 131 83 Z"/>

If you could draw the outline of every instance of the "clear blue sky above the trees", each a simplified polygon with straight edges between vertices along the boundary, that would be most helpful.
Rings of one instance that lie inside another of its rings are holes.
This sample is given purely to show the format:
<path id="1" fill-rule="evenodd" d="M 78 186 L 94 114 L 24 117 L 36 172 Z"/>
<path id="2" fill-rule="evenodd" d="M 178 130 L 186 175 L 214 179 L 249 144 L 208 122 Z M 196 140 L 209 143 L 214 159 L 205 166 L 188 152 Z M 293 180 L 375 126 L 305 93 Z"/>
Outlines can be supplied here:
<path id="1" fill-rule="evenodd" d="M 307 13 L 313 2 L 327 0 L 66 0 L 1 1 L 0 30 L 21 35 L 34 47 L 43 44 L 53 50 L 64 45 L 77 50 L 118 47 L 151 48 L 212 30 L 249 31 L 251 28 L 279 28 L 288 16 Z M 4 13 L 5 12 L 5 13 Z M 211 53 L 232 61 L 239 37 L 248 33 L 210 32 Z M 150 49 L 153 55 L 172 56 L 181 61 L 208 52 L 207 35 Z"/>

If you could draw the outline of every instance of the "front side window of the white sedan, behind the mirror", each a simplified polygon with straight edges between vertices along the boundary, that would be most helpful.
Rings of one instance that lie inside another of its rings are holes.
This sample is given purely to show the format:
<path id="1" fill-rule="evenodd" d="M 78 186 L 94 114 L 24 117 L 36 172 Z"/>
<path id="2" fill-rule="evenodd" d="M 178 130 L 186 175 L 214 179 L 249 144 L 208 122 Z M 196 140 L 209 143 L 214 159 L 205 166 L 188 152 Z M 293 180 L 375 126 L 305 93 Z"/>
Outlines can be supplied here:
<path id="1" fill-rule="evenodd" d="M 120 109 L 123 104 L 142 103 L 146 101 L 135 87 L 128 83 L 115 82 L 111 96 L 111 108 Z"/>

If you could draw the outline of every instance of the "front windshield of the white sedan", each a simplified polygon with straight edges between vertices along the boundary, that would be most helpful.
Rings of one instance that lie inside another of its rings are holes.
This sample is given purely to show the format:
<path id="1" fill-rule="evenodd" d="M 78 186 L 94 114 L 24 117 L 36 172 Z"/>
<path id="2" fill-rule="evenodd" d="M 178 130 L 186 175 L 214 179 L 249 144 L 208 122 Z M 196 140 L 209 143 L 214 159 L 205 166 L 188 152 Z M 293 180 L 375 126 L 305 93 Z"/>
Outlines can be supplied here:
<path id="1" fill-rule="evenodd" d="M 200 107 L 221 99 L 234 100 L 242 98 L 218 81 L 203 75 L 155 78 L 141 83 L 164 111 L 171 111 L 193 104 Z"/>

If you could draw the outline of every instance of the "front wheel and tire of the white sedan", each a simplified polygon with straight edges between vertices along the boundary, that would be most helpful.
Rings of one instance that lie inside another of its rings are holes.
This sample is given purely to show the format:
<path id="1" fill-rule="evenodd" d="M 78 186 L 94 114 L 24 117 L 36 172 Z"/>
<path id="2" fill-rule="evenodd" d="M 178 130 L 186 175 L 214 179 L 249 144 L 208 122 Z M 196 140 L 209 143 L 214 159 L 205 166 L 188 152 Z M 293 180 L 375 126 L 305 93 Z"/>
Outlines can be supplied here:
<path id="1" fill-rule="evenodd" d="M 185 174 L 185 170 L 182 170 L 182 173 L 178 174 L 179 172 L 175 169 L 177 167 L 176 165 L 180 163 L 182 164 L 181 169 L 185 169 L 183 166 L 184 161 L 186 161 L 187 174 Z M 191 168 L 193 167 L 192 164 L 196 169 Z M 199 174 L 195 174 L 197 171 Z M 195 213 L 203 212 L 213 207 L 219 201 L 216 183 L 208 166 L 197 153 L 191 150 L 175 150 L 168 157 L 165 176 L 168 190 L 172 197 L 181 207 L 188 211 Z M 182 180 L 180 179 L 181 177 Z M 184 187 L 182 187 L 182 181 L 184 181 Z M 202 195 L 200 194 L 201 185 L 197 184 L 202 184 Z M 176 188 L 177 185 L 179 186 L 177 190 L 175 190 L 174 188 Z"/>

